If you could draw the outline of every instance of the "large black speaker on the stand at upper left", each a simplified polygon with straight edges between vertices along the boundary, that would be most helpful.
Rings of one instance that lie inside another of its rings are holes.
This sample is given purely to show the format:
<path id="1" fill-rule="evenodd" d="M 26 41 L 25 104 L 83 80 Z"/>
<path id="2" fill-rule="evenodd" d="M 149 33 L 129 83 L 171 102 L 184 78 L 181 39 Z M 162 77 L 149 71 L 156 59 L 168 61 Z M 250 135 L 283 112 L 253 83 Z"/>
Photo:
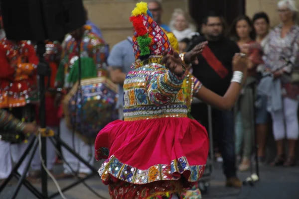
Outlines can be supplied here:
<path id="1" fill-rule="evenodd" d="M 82 0 L 1 0 L 0 6 L 11 40 L 59 40 L 86 22 Z"/>

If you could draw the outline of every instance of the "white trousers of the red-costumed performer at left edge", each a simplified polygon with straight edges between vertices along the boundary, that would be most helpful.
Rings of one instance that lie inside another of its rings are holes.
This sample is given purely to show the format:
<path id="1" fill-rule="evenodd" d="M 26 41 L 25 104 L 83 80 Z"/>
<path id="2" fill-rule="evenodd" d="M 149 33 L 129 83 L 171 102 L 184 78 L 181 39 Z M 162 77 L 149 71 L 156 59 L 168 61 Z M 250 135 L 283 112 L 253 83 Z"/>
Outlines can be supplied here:
<path id="1" fill-rule="evenodd" d="M 0 140 L 0 179 L 5 179 L 9 176 L 13 169 L 12 162 L 16 163 L 20 159 L 28 145 L 28 143 L 10 144 Z M 24 173 L 29 154 L 17 170 L 20 175 Z"/>

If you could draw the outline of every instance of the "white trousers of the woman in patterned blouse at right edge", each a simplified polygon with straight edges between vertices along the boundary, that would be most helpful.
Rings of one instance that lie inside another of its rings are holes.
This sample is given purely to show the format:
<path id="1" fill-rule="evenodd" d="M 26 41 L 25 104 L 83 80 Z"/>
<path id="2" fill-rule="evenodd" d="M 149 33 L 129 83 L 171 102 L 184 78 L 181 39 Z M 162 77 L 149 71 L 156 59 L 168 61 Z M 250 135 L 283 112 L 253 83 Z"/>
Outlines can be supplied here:
<path id="1" fill-rule="evenodd" d="M 271 112 L 273 119 L 273 135 L 275 140 L 298 139 L 299 124 L 298 124 L 298 101 L 290 98 L 284 98 L 284 111 Z M 285 123 L 286 122 L 286 130 Z"/>

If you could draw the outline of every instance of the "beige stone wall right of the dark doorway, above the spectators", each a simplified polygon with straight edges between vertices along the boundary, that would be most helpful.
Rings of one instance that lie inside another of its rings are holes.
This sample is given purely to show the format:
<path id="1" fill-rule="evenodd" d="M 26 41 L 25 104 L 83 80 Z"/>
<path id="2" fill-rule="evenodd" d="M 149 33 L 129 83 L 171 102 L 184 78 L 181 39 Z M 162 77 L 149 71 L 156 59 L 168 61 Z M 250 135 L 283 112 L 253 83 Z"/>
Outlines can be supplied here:
<path id="1" fill-rule="evenodd" d="M 258 11 L 264 11 L 268 13 L 271 26 L 277 25 L 280 20 L 277 13 L 277 2 L 279 0 L 246 0 L 246 14 L 250 17 L 254 15 L 254 13 Z M 299 5 L 299 0 L 297 1 L 297 5 Z"/>

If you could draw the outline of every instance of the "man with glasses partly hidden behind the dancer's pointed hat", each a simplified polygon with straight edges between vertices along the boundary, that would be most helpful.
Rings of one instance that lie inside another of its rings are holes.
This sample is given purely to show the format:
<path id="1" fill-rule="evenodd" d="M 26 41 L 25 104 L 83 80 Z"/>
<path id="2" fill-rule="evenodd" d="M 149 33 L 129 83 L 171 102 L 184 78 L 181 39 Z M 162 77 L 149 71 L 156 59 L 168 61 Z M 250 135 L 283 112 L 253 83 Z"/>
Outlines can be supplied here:
<path id="1" fill-rule="evenodd" d="M 162 4 L 158 0 L 149 0 L 148 1 L 149 11 L 152 14 L 152 19 L 164 30 L 170 32 L 170 28 L 165 23 L 161 22 L 163 8 Z"/>

